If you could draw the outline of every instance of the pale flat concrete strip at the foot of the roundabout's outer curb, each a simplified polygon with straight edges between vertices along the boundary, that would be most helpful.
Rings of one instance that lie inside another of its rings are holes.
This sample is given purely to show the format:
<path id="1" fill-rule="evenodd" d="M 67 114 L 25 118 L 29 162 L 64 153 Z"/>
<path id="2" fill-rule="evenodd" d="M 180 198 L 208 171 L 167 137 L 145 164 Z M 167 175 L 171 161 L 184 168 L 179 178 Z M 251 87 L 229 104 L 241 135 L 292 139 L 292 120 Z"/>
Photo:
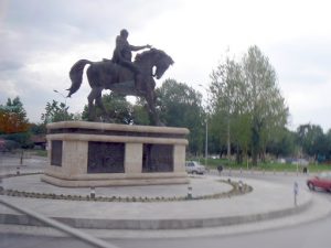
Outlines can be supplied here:
<path id="1" fill-rule="evenodd" d="M 103 239 L 159 239 L 159 238 L 190 238 L 190 237 L 212 237 L 243 235 L 256 231 L 266 231 L 279 228 L 295 228 L 298 225 L 319 222 L 330 217 L 330 202 L 320 196 L 313 196 L 312 205 L 307 212 L 297 215 L 286 216 L 284 218 L 269 219 L 258 223 L 247 223 L 243 225 L 233 225 L 227 227 L 191 228 L 182 230 L 110 230 L 110 229 L 81 229 L 89 235 Z M 63 233 L 53 227 L 36 227 L 24 225 L 1 225 L 0 233 L 3 234 L 23 234 L 30 236 L 46 237 L 66 237 Z"/>

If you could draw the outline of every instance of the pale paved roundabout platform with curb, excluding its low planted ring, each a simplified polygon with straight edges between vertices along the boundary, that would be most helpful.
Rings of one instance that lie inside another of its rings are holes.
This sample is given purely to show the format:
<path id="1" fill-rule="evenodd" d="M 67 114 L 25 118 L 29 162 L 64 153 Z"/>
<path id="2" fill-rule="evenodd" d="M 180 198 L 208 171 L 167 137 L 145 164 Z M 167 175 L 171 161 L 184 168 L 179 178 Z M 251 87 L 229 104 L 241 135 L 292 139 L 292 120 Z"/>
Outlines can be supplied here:
<path id="1" fill-rule="evenodd" d="M 4 188 L 33 188 L 41 192 L 89 194 L 89 188 L 64 188 L 47 185 L 40 175 L 18 176 L 3 180 Z M 229 185 L 220 183 L 220 176 L 192 179 L 193 195 L 228 191 Z M 224 179 L 225 180 L 225 179 Z M 298 214 L 311 204 L 311 194 L 302 191 L 298 205 L 293 205 L 290 186 L 265 181 L 245 180 L 254 191 L 235 197 L 192 200 L 179 202 L 87 202 L 45 198 L 26 198 L 1 195 L 2 200 L 24 206 L 44 216 L 77 228 L 93 229 L 186 229 L 231 226 Z M 105 195 L 185 195 L 188 185 L 122 186 L 97 188 Z M 30 220 L 8 208 L 0 215 L 8 224 L 30 224 Z"/>

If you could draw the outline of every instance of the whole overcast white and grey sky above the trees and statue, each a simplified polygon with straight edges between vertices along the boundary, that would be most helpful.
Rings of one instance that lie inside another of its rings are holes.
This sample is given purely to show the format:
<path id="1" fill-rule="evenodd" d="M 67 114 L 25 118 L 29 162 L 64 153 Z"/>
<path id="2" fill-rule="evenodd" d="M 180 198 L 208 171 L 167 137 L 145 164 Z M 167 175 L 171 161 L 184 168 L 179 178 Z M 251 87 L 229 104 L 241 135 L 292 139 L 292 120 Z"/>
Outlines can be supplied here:
<path id="1" fill-rule="evenodd" d="M 238 60 L 250 45 L 269 57 L 290 110 L 289 128 L 331 128 L 329 1 L 0 0 L 0 104 L 20 96 L 30 121 L 47 101 L 64 101 L 68 71 L 81 60 L 110 57 L 121 29 L 134 45 L 151 44 L 174 60 L 158 82 L 202 93 L 225 52 Z M 82 111 L 89 86 L 66 100 Z M 205 95 L 205 94 L 204 94 Z"/>

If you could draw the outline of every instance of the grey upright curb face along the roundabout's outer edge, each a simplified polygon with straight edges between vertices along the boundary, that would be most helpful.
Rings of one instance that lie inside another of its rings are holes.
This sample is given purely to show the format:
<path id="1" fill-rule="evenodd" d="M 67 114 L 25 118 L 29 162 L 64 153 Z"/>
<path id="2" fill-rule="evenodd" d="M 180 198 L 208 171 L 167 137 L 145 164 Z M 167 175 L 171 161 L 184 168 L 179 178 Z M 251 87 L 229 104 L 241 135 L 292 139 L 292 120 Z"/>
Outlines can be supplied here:
<path id="1" fill-rule="evenodd" d="M 158 230 L 158 229 L 190 229 L 242 225 L 254 222 L 261 222 L 281 218 L 289 215 L 300 214 L 307 211 L 312 204 L 312 198 L 297 207 L 238 216 L 222 216 L 213 218 L 185 218 L 185 219 L 92 219 L 92 218 L 70 218 L 51 217 L 57 222 L 75 228 L 87 229 L 130 229 L 130 230 Z M 26 215 L 0 214 L 2 224 L 45 226 L 35 222 Z"/>

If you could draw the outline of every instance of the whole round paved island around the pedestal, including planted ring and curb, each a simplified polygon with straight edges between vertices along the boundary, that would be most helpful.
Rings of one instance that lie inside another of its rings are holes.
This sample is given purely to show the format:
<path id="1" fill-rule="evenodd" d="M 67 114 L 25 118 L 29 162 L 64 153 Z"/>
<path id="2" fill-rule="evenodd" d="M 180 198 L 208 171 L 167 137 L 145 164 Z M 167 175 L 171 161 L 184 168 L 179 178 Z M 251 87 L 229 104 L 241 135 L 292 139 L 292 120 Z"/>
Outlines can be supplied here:
<path id="1" fill-rule="evenodd" d="M 216 175 L 189 176 L 189 184 L 96 187 L 94 197 L 90 187 L 58 187 L 40 176 L 2 179 L 1 201 L 107 237 L 177 237 L 183 235 L 177 230 L 206 235 L 220 228 L 264 226 L 299 215 L 313 202 L 309 192 L 301 192 L 293 205 L 286 185 Z M 7 225 L 43 226 L 11 209 L 3 208 L 1 216 Z"/>

